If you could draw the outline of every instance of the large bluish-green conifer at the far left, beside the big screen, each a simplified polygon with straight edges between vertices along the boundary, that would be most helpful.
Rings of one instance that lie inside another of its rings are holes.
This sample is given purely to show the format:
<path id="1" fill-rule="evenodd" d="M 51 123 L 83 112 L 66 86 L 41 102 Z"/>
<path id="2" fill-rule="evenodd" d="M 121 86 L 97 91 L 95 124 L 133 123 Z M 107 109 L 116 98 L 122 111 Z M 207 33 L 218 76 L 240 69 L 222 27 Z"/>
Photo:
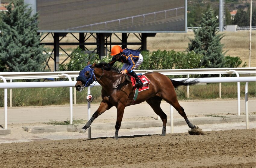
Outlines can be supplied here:
<path id="1" fill-rule="evenodd" d="M 12 1 L 7 12 L 1 12 L 0 22 L 0 71 L 42 71 L 46 60 L 37 33 L 38 13 L 23 0 Z"/>

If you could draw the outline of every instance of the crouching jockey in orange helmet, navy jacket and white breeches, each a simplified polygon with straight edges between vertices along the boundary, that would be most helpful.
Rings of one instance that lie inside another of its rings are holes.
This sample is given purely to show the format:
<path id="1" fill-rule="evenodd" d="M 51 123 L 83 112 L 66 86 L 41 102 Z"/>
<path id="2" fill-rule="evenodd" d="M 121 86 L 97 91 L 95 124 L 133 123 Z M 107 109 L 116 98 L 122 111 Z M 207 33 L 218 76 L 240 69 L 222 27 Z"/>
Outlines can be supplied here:
<path id="1" fill-rule="evenodd" d="M 133 71 L 143 62 L 143 57 L 139 51 L 128 48 L 122 49 L 120 46 L 113 46 L 110 55 L 113 56 L 112 60 L 109 62 L 110 66 L 113 66 L 116 61 L 124 63 L 121 73 L 129 73 L 133 76 L 136 80 L 136 87 L 143 85 L 137 74 Z"/>

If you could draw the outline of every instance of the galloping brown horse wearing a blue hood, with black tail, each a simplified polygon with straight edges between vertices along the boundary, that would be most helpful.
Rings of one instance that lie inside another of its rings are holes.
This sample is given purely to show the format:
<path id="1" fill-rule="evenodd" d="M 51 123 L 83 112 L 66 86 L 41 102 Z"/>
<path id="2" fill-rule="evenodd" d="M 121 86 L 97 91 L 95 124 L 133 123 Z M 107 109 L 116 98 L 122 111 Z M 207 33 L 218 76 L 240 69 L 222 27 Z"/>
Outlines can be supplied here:
<path id="1" fill-rule="evenodd" d="M 162 99 L 172 105 L 181 116 L 185 119 L 189 128 L 198 129 L 198 126 L 192 125 L 189 122 L 184 109 L 180 106 L 175 89 L 180 85 L 192 85 L 198 83 L 197 80 L 193 81 L 175 81 L 169 79 L 167 76 L 158 72 L 148 72 L 144 74 L 150 80 L 150 87 L 148 90 L 141 91 L 134 104 L 139 104 L 146 101 L 154 110 L 154 112 L 161 117 L 163 122 L 162 136 L 165 136 L 167 116 L 160 107 Z M 123 119 L 124 108 L 130 106 L 133 102 L 135 94 L 133 85 L 126 80 L 125 75 L 121 75 L 116 67 L 109 67 L 108 63 L 93 64 L 92 66 L 87 65 L 83 70 L 80 71 L 77 77 L 76 90 L 82 91 L 84 87 L 88 87 L 94 81 L 97 81 L 101 86 L 101 97 L 102 101 L 92 118 L 86 123 L 81 129 L 80 133 L 85 133 L 86 129 L 90 127 L 93 120 L 99 115 L 104 113 L 106 110 L 115 106 L 117 108 L 117 122 L 116 132 L 114 139 L 118 137 L 118 131 L 121 126 Z"/>

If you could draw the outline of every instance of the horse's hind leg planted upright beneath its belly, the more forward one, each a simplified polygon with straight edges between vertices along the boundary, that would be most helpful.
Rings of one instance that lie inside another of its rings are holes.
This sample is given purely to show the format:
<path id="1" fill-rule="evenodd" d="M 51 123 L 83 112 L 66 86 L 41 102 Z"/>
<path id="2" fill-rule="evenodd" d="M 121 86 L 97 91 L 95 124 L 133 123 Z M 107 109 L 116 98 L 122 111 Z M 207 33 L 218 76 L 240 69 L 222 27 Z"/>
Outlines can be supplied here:
<path id="1" fill-rule="evenodd" d="M 162 136 L 165 136 L 165 132 L 166 132 L 166 123 L 167 123 L 167 116 L 166 114 L 163 112 L 163 110 L 160 107 L 162 98 L 155 96 L 152 98 L 149 98 L 148 100 L 146 100 L 146 102 L 150 105 L 150 107 L 152 107 L 152 109 L 154 110 L 154 112 L 160 116 L 162 122 L 163 122 L 163 130 L 162 130 Z"/>

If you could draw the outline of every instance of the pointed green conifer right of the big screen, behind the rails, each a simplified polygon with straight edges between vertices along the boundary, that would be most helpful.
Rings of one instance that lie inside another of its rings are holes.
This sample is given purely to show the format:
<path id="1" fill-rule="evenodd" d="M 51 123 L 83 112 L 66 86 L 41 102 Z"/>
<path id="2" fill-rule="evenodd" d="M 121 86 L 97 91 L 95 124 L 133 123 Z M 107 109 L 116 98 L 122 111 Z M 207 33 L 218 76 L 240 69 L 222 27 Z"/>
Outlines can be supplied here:
<path id="1" fill-rule="evenodd" d="M 218 19 L 212 8 L 203 14 L 199 29 L 193 29 L 194 39 L 189 39 L 188 51 L 204 55 L 201 66 L 205 68 L 221 68 L 224 66 L 223 44 L 220 40 L 223 34 L 217 34 Z"/>

